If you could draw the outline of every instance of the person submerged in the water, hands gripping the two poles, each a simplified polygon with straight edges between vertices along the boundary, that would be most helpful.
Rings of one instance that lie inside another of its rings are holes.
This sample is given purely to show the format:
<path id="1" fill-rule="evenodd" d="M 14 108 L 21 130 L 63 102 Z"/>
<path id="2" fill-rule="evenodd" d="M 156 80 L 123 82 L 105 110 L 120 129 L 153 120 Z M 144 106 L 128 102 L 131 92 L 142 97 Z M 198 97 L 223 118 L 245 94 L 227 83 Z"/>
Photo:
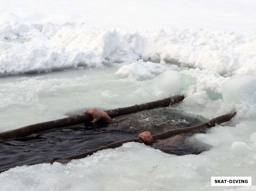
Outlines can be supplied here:
<path id="1" fill-rule="evenodd" d="M 159 110 L 159 108 L 158 108 L 158 110 Z M 150 111 L 151 111 L 151 113 L 150 113 Z M 156 114 L 156 113 L 152 113 L 152 111 L 153 110 L 147 110 L 147 112 L 148 113 L 146 113 L 146 114 L 148 114 L 149 116 L 151 115 L 151 118 Z M 145 113 L 145 111 L 143 111 L 144 113 Z M 103 120 L 103 121 L 106 121 L 106 122 L 108 122 L 108 123 L 114 123 L 114 122 L 120 122 L 120 121 L 113 121 L 109 116 L 108 116 L 108 114 L 106 113 L 106 112 L 104 112 L 104 111 L 102 111 L 102 110 L 100 110 L 100 109 L 97 109 L 97 108 L 90 108 L 90 109 L 87 109 L 87 110 L 85 110 L 84 112 L 83 112 L 84 114 L 90 114 L 90 115 L 92 115 L 92 117 L 93 117 L 93 121 L 92 121 L 92 123 L 95 123 L 95 122 L 97 122 L 97 121 L 100 121 L 100 120 Z M 139 112 L 139 113 L 141 113 L 141 112 Z M 138 114 L 138 113 L 137 113 Z M 153 116 L 152 116 L 152 114 L 153 114 Z M 180 116 L 178 116 L 178 117 L 184 117 L 185 115 L 183 114 L 183 112 L 180 114 Z M 177 114 L 176 114 L 177 115 Z M 143 116 L 144 118 L 145 118 L 145 116 Z M 142 117 L 142 118 L 143 118 Z M 148 117 L 148 116 L 147 116 Z M 194 117 L 194 116 L 193 116 Z M 156 118 L 155 119 L 155 121 L 153 121 L 153 125 L 150 125 L 149 123 L 150 123 L 150 121 L 148 120 L 147 121 L 147 119 L 149 119 L 149 117 L 148 118 L 146 118 L 146 119 L 142 119 L 142 120 L 140 120 L 140 122 L 139 123 L 136 123 L 136 120 L 137 119 L 135 119 L 134 118 L 134 120 L 131 120 L 130 121 L 130 123 L 128 124 L 129 126 L 143 126 L 142 124 L 141 124 L 141 121 L 145 121 L 145 123 L 147 124 L 146 125 L 146 127 L 144 127 L 144 128 L 141 128 L 141 127 L 137 127 L 137 130 L 138 131 L 142 131 L 140 134 L 139 134 L 139 138 L 140 139 L 142 139 L 144 142 L 147 142 L 147 143 L 151 143 L 151 142 L 153 142 L 153 137 L 152 137 L 152 135 L 151 135 L 151 133 L 148 131 L 149 129 L 152 131 L 155 131 L 155 133 L 160 133 L 160 132 L 163 132 L 163 131 L 166 131 L 166 130 L 170 130 L 170 125 L 169 126 L 166 126 L 168 123 L 170 124 L 172 124 L 172 127 L 174 127 L 175 126 L 175 124 L 173 124 L 173 122 L 176 122 L 176 123 L 178 123 L 178 124 L 176 124 L 176 126 L 192 126 L 191 125 L 191 123 L 188 123 L 186 120 L 183 120 L 182 121 L 182 119 L 179 119 L 178 120 L 178 122 L 177 121 L 175 121 L 175 120 L 173 120 L 173 119 L 171 119 L 171 120 L 167 120 L 166 118 L 163 118 L 162 117 L 162 119 L 159 117 L 159 118 Z M 193 118 L 194 119 L 194 118 Z M 205 118 L 204 118 L 205 119 Z M 203 121 L 204 121 L 204 119 L 203 119 Z M 164 121 L 164 123 L 163 123 L 163 121 Z M 199 120 L 197 120 L 196 121 L 196 123 L 198 123 L 198 121 L 202 121 L 202 119 L 199 119 Z M 160 123 L 160 125 L 159 124 L 156 124 L 156 123 Z M 162 124 L 161 124 L 161 122 L 162 122 Z M 187 122 L 187 123 L 186 123 Z M 189 121 L 189 122 L 191 122 L 191 121 Z M 152 120 L 151 120 L 151 123 L 152 123 Z M 167 123 L 167 124 L 166 124 Z M 161 126 L 162 125 L 162 126 Z M 165 126 L 164 126 L 165 125 Z M 151 127 L 151 128 L 150 128 Z M 155 127 L 155 128 L 152 128 L 152 127 Z M 166 127 L 166 128 L 163 128 L 163 127 Z M 132 128 L 134 128 L 134 127 L 132 127 Z M 145 129 L 147 129 L 147 131 L 145 131 Z"/>

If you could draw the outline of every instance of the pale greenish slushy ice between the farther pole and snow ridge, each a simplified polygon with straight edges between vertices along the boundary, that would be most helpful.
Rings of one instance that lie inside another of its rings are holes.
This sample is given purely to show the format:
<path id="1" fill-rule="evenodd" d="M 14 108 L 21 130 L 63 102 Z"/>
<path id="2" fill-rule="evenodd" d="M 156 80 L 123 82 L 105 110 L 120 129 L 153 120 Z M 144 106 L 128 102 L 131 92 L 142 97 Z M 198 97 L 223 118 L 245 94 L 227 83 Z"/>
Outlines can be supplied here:
<path id="1" fill-rule="evenodd" d="M 184 91 L 193 80 L 177 71 L 166 69 L 167 71 L 162 70 L 161 75 L 151 80 L 137 81 L 134 78 L 117 77 L 115 72 L 119 68 L 116 65 L 92 70 L 67 70 L 35 77 L 2 78 L 0 131 L 67 117 L 65 113 L 77 109 L 112 109 L 166 98 Z M 24 115 L 30 117 L 24 118 Z M 16 120 L 12 120 L 14 116 Z"/>

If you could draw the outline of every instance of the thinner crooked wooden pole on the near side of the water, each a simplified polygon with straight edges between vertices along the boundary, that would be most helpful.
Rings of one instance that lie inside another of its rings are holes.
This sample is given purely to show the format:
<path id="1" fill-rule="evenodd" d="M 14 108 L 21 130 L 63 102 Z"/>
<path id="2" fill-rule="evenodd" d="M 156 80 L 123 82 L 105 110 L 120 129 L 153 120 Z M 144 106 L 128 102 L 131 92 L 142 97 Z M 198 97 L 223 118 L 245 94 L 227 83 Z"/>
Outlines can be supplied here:
<path id="1" fill-rule="evenodd" d="M 158 134 L 152 135 L 152 137 L 153 137 L 153 140 L 156 141 L 157 139 L 165 139 L 165 138 L 168 138 L 170 136 L 178 135 L 178 134 L 181 134 L 181 133 L 187 133 L 189 131 L 193 131 L 193 130 L 197 130 L 197 129 L 204 129 L 204 128 L 208 128 L 208 127 L 213 127 L 216 124 L 221 124 L 221 123 L 230 121 L 232 119 L 232 117 L 234 117 L 235 115 L 236 115 L 236 112 L 232 112 L 232 113 L 229 113 L 229 114 L 226 114 L 226 115 L 221 115 L 219 117 L 215 117 L 215 118 L 211 119 L 209 122 L 201 123 L 199 125 L 194 125 L 194 126 L 191 126 L 191 127 L 185 127 L 185 128 L 180 128 L 180 129 L 172 129 L 172 130 L 169 130 L 169 131 L 165 131 L 163 133 L 158 133 Z M 87 156 L 92 155 L 93 153 L 95 153 L 97 151 L 101 151 L 101 150 L 104 150 L 104 149 L 114 149 L 116 147 L 120 147 L 124 143 L 128 143 L 128 142 L 143 143 L 143 141 L 139 138 L 126 139 L 126 140 L 110 143 L 110 144 L 107 144 L 105 146 L 100 146 L 99 148 L 93 149 L 91 151 L 79 153 L 79 154 L 76 154 L 76 155 L 70 155 L 70 156 L 67 156 L 67 157 L 54 159 L 54 160 L 46 161 L 46 162 L 43 162 L 43 163 L 51 163 L 51 164 L 53 162 L 67 163 L 67 162 L 69 162 L 70 160 L 73 160 L 73 159 L 85 158 Z M 0 173 L 2 173 L 4 171 L 7 171 L 7 170 L 9 170 L 9 168 L 4 169 L 4 170 L 0 170 Z"/>

